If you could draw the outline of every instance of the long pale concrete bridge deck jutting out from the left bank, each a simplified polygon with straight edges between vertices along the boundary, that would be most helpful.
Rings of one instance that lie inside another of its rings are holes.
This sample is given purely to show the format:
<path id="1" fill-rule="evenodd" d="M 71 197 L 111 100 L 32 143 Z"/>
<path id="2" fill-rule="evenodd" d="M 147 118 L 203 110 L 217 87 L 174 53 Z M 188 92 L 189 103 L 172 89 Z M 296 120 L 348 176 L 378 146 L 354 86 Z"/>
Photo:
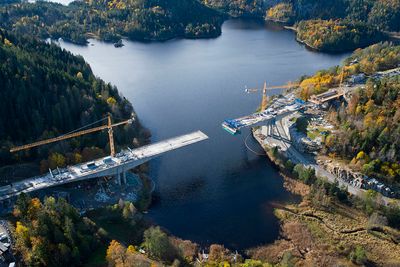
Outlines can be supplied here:
<path id="1" fill-rule="evenodd" d="M 0 187 L 0 201 L 15 197 L 21 193 L 29 193 L 52 186 L 104 176 L 119 176 L 165 152 L 206 139 L 208 139 L 207 135 L 197 131 L 136 149 L 122 150 L 115 157 L 108 156 L 63 169 L 57 168 L 45 175 Z"/>

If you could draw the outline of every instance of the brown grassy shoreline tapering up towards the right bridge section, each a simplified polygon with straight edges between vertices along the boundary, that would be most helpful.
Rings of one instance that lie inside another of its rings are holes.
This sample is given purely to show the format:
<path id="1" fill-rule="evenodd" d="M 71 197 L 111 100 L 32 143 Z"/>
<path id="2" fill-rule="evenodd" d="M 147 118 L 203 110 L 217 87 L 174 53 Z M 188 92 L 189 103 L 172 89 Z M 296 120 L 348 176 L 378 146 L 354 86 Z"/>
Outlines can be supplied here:
<path id="1" fill-rule="evenodd" d="M 296 204 L 275 204 L 281 234 L 274 243 L 247 251 L 252 259 L 279 264 L 290 255 L 296 266 L 326 266 L 354 263 L 352 253 L 356 248 L 365 251 L 365 261 L 384 266 L 400 260 L 398 230 L 380 224 L 371 224 L 369 215 L 358 207 L 338 201 L 321 193 L 318 185 L 307 185 L 292 178 L 287 169 L 272 156 L 268 145 L 254 134 L 269 160 L 280 169 L 284 187 L 301 196 Z M 322 191 L 323 192 L 323 191 Z M 325 265 L 324 265 L 325 266 Z"/>

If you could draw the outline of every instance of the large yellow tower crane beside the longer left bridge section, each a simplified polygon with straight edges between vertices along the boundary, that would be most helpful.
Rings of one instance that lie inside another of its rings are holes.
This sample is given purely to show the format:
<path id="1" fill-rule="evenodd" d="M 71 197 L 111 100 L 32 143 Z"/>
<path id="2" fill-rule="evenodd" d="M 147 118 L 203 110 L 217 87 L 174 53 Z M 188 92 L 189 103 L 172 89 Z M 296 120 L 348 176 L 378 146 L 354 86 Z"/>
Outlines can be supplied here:
<path id="1" fill-rule="evenodd" d="M 102 120 L 104 120 L 104 119 L 102 119 Z M 102 120 L 100 120 L 100 121 L 102 121 Z M 115 147 L 114 147 L 113 128 L 117 127 L 117 126 L 120 126 L 120 125 L 124 125 L 124 124 L 131 124 L 133 121 L 134 121 L 134 118 L 132 117 L 129 120 L 125 120 L 125 121 L 121 121 L 121 122 L 112 124 L 111 114 L 108 114 L 107 115 L 107 124 L 105 124 L 105 125 L 94 127 L 94 128 L 90 128 L 90 129 L 86 129 L 86 130 L 82 130 L 82 131 L 78 131 L 78 132 L 74 132 L 73 131 L 71 133 L 68 133 L 68 134 L 65 134 L 65 135 L 61 135 L 61 136 L 58 136 L 58 137 L 54 137 L 54 138 L 50 138 L 50 139 L 46 139 L 46 140 L 41 140 L 41 141 L 34 142 L 34 143 L 31 143 L 31 144 L 26 144 L 26 145 L 22 145 L 22 146 L 13 147 L 13 148 L 10 149 L 10 152 L 17 152 L 17 151 L 21 151 L 21 150 L 26 150 L 26 149 L 30 149 L 30 148 L 33 148 L 33 147 L 46 145 L 46 144 L 50 144 L 50 143 L 66 140 L 66 139 L 69 139 L 69 138 L 73 138 L 73 137 L 77 137 L 77 136 L 81 136 L 81 135 L 85 135 L 85 134 L 94 133 L 94 132 L 98 132 L 98 131 L 102 131 L 102 130 L 108 129 L 108 138 L 109 138 L 109 141 L 110 141 L 110 152 L 111 152 L 111 156 L 114 157 L 115 156 Z M 82 128 L 85 128 L 85 127 L 86 126 L 84 126 Z M 80 129 L 82 129 L 82 128 L 80 128 Z"/>

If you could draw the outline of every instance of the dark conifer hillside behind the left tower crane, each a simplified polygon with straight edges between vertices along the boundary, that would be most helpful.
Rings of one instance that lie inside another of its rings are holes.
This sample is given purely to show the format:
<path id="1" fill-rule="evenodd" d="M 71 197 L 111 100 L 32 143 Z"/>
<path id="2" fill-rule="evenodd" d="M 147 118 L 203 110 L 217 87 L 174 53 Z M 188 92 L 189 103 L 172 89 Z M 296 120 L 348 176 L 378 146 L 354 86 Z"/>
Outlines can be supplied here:
<path id="1" fill-rule="evenodd" d="M 104 133 L 14 154 L 9 149 L 65 134 L 108 113 L 116 121 L 136 117 L 114 86 L 96 78 L 82 57 L 57 45 L 1 30 L 0 62 L 0 98 L 7 100 L 0 106 L 7 114 L 0 117 L 2 166 L 42 160 L 41 170 L 47 171 L 103 155 L 108 151 Z M 115 130 L 117 145 L 132 146 L 132 140 L 143 135 L 139 122 Z"/>

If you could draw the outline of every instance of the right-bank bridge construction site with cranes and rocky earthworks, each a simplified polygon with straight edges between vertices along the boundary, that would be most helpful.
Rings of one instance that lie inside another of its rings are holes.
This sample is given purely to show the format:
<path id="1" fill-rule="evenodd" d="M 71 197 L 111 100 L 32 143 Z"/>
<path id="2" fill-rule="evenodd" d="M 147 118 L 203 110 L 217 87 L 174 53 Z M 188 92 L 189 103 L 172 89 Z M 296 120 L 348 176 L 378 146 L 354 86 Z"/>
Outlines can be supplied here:
<path id="1" fill-rule="evenodd" d="M 394 71 L 398 71 L 398 69 Z M 393 71 L 387 73 L 390 75 Z M 353 77 L 349 78 L 349 80 L 352 79 Z M 381 193 L 387 203 L 390 198 L 397 197 L 392 188 L 378 182 L 373 177 L 367 177 L 347 169 L 343 171 L 338 164 L 332 167 L 331 159 L 319 159 L 318 152 L 322 148 L 323 137 L 334 130 L 334 126 L 325 119 L 327 115 L 325 110 L 329 106 L 339 106 L 340 103 L 346 102 L 351 93 L 363 87 L 364 84 L 359 80 L 345 84 L 342 73 L 338 87 L 313 95 L 308 101 L 296 98 L 295 90 L 286 91 L 269 100 L 268 90 L 295 89 L 298 86 L 299 84 L 289 83 L 288 85 L 267 87 L 264 83 L 261 90 L 246 88 L 246 93 L 262 92 L 260 111 L 237 119 L 226 119 L 221 124 L 222 128 L 232 135 L 240 134 L 242 128 L 252 128 L 253 136 L 262 147 L 278 148 L 294 164 L 302 164 L 315 169 L 317 175 L 325 177 L 331 182 L 338 181 L 352 194 L 360 195 L 366 190 L 374 190 Z M 307 133 L 298 131 L 296 121 L 299 118 L 309 121 Z"/>

